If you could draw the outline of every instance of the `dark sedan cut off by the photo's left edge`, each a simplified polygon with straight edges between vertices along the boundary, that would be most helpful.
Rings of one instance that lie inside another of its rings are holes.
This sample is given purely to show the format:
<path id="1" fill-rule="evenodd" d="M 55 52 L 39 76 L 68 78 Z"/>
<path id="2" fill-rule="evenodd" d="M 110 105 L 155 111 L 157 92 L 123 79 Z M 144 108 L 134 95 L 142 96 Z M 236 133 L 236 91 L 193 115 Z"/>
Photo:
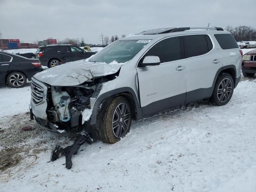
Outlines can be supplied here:
<path id="1" fill-rule="evenodd" d="M 0 52 L 0 84 L 14 88 L 23 87 L 27 80 L 43 69 L 38 59 Z"/>

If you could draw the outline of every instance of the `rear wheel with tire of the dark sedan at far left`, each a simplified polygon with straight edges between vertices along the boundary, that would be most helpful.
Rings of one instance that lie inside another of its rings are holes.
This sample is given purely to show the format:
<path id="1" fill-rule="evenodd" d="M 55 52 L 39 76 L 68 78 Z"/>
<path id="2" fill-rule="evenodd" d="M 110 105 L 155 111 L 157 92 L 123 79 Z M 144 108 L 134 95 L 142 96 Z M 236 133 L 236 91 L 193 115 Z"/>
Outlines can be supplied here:
<path id="1" fill-rule="evenodd" d="M 14 71 L 8 74 L 6 82 L 13 88 L 21 88 L 27 83 L 27 77 L 22 72 Z"/>

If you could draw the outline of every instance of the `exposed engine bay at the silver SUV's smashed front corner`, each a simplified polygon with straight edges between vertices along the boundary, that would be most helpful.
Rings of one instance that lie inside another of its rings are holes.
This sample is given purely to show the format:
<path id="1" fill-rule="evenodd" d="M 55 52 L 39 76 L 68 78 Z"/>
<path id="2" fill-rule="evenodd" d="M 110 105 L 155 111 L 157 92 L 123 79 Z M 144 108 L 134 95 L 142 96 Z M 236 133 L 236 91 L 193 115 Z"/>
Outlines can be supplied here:
<path id="1" fill-rule="evenodd" d="M 48 123 L 59 132 L 81 131 L 82 113 L 91 109 L 91 102 L 98 97 L 102 83 L 114 78 L 108 75 L 77 86 L 51 86 L 46 110 Z"/>

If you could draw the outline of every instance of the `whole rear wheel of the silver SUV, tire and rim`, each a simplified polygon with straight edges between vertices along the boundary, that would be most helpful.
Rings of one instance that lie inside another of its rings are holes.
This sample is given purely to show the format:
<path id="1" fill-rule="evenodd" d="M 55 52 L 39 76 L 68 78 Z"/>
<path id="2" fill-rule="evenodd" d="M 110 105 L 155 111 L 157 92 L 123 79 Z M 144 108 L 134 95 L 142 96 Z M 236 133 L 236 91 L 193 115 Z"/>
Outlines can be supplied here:
<path id="1" fill-rule="evenodd" d="M 216 106 L 226 105 L 234 91 L 234 80 L 228 73 L 222 73 L 218 76 L 210 101 Z"/>

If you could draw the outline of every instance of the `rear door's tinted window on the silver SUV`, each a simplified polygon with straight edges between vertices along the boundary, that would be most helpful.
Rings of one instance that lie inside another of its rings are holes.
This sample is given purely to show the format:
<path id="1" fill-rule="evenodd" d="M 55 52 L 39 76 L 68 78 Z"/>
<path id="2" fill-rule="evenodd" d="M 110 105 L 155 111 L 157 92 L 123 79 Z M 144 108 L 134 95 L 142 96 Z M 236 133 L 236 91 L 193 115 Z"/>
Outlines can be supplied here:
<path id="1" fill-rule="evenodd" d="M 183 36 L 183 39 L 186 58 L 206 54 L 209 48 L 212 48 L 212 42 L 210 41 L 208 45 L 206 35 L 187 35 Z"/>

